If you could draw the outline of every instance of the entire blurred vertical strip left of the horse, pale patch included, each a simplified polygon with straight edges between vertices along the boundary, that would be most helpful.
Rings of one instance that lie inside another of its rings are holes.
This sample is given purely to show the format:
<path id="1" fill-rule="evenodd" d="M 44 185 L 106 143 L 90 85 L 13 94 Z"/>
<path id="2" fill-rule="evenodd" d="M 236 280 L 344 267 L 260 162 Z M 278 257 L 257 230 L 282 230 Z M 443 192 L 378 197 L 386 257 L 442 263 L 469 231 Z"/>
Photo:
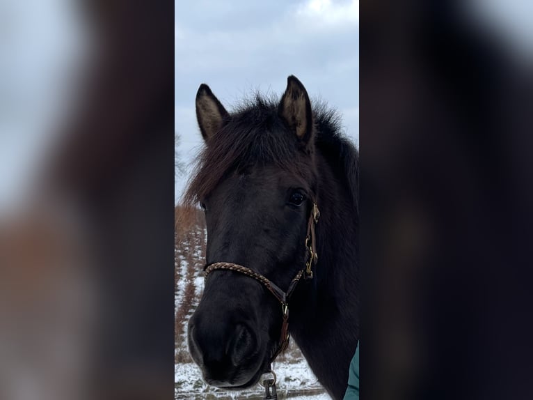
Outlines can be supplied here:
<path id="1" fill-rule="evenodd" d="M 0 398 L 173 396 L 174 3 L 0 3 Z"/>

